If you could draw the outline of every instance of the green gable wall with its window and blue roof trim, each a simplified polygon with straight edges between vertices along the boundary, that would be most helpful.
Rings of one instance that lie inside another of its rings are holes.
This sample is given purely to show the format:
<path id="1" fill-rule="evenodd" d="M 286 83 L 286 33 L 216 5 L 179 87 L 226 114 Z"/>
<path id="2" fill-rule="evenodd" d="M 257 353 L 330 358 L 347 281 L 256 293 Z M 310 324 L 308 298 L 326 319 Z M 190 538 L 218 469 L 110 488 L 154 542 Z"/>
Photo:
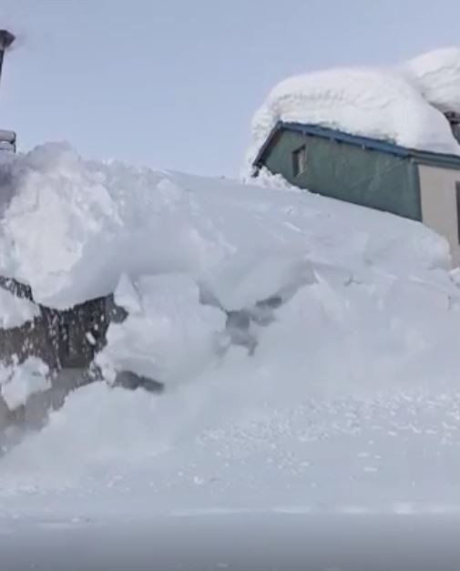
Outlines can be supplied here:
<path id="1" fill-rule="evenodd" d="M 279 123 L 254 162 L 292 185 L 423 220 L 419 166 L 460 170 L 460 157 L 403 148 L 325 127 Z"/>

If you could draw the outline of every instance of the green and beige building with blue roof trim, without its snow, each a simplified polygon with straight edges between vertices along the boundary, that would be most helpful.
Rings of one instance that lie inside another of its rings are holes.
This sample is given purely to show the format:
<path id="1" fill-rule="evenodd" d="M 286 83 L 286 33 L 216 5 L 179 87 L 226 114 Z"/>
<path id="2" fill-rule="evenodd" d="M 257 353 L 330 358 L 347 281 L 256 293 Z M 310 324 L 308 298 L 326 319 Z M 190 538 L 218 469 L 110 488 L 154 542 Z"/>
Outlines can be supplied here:
<path id="1" fill-rule="evenodd" d="M 446 120 L 460 140 L 460 117 Z M 255 176 L 265 167 L 301 189 L 420 220 L 460 263 L 460 156 L 279 121 L 253 166 Z"/>

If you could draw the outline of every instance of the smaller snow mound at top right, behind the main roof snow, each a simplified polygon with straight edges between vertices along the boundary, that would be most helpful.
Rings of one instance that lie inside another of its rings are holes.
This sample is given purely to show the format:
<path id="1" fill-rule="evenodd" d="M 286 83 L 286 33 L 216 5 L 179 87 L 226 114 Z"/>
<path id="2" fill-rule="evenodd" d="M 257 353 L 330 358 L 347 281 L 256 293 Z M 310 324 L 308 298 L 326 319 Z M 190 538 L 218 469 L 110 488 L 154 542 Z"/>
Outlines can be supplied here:
<path id="1" fill-rule="evenodd" d="M 431 105 L 460 113 L 460 47 L 415 57 L 403 65 L 403 72 Z"/>

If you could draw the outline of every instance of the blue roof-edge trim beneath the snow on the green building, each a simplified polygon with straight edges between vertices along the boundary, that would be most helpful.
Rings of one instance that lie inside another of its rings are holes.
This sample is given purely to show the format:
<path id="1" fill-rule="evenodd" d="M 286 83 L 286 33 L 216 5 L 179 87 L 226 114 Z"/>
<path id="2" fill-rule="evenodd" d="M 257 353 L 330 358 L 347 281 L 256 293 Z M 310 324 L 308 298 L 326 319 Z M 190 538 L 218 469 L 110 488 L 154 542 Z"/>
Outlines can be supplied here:
<path id="1" fill-rule="evenodd" d="M 328 127 L 302 125 L 301 123 L 284 123 L 283 121 L 278 121 L 275 127 L 272 128 L 269 138 L 267 138 L 265 143 L 262 145 L 259 154 L 252 163 L 254 167 L 261 168 L 263 166 L 267 153 L 276 143 L 276 140 L 282 131 L 291 131 L 300 133 L 304 136 L 329 139 L 339 143 L 346 143 L 348 145 L 365 148 L 370 151 L 380 151 L 389 155 L 394 155 L 395 157 L 413 158 L 416 162 L 421 164 L 437 165 L 440 167 L 456 168 L 460 170 L 460 156 L 458 155 L 406 148 L 389 141 L 350 135 L 349 133 L 344 133 Z"/>

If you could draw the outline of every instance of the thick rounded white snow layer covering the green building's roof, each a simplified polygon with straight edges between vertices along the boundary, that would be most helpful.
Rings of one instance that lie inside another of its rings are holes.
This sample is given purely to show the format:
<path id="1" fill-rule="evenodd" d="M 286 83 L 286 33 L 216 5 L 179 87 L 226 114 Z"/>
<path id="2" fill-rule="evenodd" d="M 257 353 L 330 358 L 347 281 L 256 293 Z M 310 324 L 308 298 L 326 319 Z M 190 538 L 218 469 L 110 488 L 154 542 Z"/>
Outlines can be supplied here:
<path id="1" fill-rule="evenodd" d="M 460 111 L 460 48 L 438 50 L 399 66 L 292 76 L 271 90 L 254 115 L 246 164 L 250 168 L 280 121 L 460 155 L 445 111 Z"/>

